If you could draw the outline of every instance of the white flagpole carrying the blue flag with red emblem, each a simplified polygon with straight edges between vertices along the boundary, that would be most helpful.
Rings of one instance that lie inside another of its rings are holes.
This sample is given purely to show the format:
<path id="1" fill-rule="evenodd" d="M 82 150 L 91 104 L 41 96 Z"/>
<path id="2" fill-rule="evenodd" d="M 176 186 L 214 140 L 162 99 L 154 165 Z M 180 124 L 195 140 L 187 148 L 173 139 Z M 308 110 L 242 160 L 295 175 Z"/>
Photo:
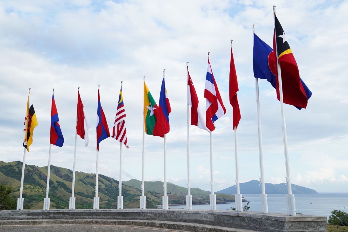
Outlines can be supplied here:
<path id="1" fill-rule="evenodd" d="M 255 24 L 253 24 L 253 33 L 255 33 Z M 256 90 L 256 109 L 258 112 L 258 131 L 259 131 L 259 158 L 260 158 L 260 181 L 261 181 L 261 210 L 262 213 L 268 214 L 267 194 L 264 187 L 263 172 L 263 152 L 262 152 L 262 131 L 261 131 L 261 115 L 260 115 L 260 96 L 259 96 L 259 78 L 255 78 Z"/>

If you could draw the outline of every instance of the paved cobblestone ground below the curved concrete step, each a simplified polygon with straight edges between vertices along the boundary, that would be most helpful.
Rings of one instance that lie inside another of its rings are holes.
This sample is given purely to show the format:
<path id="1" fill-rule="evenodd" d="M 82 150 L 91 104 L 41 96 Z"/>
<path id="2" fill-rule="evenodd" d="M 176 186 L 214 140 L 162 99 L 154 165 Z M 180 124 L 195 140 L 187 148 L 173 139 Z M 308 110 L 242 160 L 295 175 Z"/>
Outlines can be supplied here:
<path id="1" fill-rule="evenodd" d="M 119 225 L 11 225 L 0 226 L 1 232 L 160 232 L 175 231 Z"/>

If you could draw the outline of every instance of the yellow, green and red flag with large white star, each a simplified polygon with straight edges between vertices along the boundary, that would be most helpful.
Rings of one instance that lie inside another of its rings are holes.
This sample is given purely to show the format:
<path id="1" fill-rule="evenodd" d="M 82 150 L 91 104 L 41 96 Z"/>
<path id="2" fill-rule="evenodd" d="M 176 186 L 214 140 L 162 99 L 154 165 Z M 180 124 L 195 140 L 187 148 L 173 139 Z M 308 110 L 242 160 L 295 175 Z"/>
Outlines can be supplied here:
<path id="1" fill-rule="evenodd" d="M 145 133 L 148 135 L 153 135 L 153 128 L 156 124 L 155 112 L 157 112 L 157 109 L 158 106 L 144 80 L 144 126 Z"/>

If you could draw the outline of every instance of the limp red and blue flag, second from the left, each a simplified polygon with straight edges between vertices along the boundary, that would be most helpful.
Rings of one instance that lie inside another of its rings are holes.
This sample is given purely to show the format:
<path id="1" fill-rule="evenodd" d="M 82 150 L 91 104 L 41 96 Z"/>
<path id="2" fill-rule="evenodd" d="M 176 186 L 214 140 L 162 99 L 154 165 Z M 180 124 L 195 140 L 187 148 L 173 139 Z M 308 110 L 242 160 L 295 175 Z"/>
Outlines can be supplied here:
<path id="1" fill-rule="evenodd" d="M 63 143 L 64 138 L 59 125 L 56 102 L 54 101 L 54 94 L 52 94 L 50 144 L 63 147 Z"/>

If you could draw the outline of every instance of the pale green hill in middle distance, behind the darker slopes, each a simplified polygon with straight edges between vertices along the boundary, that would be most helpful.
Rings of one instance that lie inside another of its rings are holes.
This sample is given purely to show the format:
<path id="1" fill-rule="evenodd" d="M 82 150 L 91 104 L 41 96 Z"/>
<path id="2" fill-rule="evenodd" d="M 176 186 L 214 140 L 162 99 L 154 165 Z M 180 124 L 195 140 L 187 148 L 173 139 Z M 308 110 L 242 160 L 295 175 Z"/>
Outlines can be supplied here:
<path id="1" fill-rule="evenodd" d="M 141 181 L 137 179 L 130 179 L 129 181 L 122 181 L 122 184 L 127 186 L 141 189 Z M 161 181 L 145 181 L 145 191 L 151 191 L 156 193 L 164 193 L 163 182 Z M 187 188 L 175 185 L 173 183 L 167 182 L 167 193 L 176 194 L 180 196 L 187 195 Z M 191 195 L 193 198 L 205 198 L 210 194 L 209 191 L 201 190 L 198 188 L 191 189 Z"/>

